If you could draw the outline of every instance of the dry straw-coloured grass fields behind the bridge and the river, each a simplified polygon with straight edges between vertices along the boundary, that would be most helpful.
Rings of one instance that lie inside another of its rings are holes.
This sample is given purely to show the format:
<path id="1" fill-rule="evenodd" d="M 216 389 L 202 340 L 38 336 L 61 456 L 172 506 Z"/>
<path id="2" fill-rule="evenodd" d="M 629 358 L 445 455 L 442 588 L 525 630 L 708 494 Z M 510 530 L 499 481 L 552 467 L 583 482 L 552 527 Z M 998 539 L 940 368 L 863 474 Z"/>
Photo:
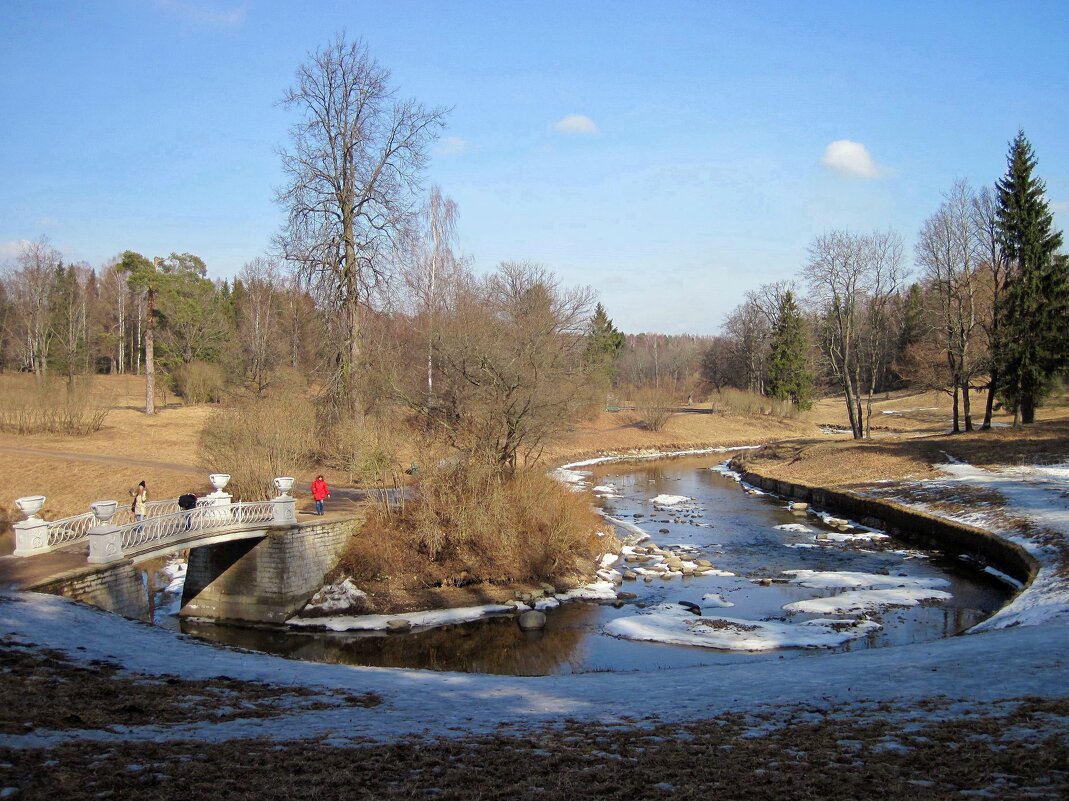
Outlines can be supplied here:
<path id="1" fill-rule="evenodd" d="M 0 375 L 4 382 L 26 376 Z M 153 417 L 142 413 L 144 380 L 139 376 L 98 376 L 93 382 L 95 402 L 110 409 L 104 427 L 84 436 L 15 434 L 0 432 L 0 453 L 7 482 L 0 494 L 0 523 L 18 519 L 14 500 L 43 494 L 46 519 L 76 514 L 99 498 L 128 497 L 144 480 L 154 498 L 175 497 L 187 490 L 206 492 L 210 473 L 226 473 L 224 464 L 203 464 L 199 453 L 201 431 L 211 405 L 187 406 L 175 401 Z M 709 404 L 672 415 L 661 431 L 648 431 L 631 412 L 599 412 L 582 421 L 543 452 L 547 464 L 560 464 L 606 452 L 673 450 L 701 446 L 731 446 L 789 441 L 779 450 L 764 453 L 783 462 L 784 475 L 828 484 L 918 475 L 939 460 L 950 437 L 950 399 L 938 392 L 895 392 L 874 403 L 873 440 L 854 443 L 849 435 L 827 433 L 846 426 L 841 399 L 825 398 L 810 412 L 781 418 L 771 415 L 731 416 L 712 413 Z M 1008 422 L 996 416 L 998 423 Z M 1065 453 L 1069 435 L 1069 403 L 1063 397 L 1039 411 L 1040 423 L 1022 434 L 1006 428 L 994 432 L 952 437 L 959 458 L 979 464 L 1005 463 L 1037 455 Z M 783 459 L 780 459 L 783 457 Z M 1053 457 L 1052 457 L 1053 458 Z M 778 467 L 777 467 L 778 469 Z M 343 477 L 326 473 L 328 482 Z M 308 476 L 298 480 L 309 481 Z M 0 552 L 10 552 L 11 535 L 0 540 Z"/>

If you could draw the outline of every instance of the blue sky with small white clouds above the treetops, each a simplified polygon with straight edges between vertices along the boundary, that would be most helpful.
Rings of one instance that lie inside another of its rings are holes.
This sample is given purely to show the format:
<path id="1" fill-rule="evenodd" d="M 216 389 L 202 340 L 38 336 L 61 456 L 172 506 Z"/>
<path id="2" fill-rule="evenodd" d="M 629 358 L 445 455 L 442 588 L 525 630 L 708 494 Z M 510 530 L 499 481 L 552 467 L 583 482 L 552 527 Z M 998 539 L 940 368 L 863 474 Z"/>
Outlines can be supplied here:
<path id="1" fill-rule="evenodd" d="M 715 333 L 833 228 L 912 255 L 1018 128 L 1069 227 L 1065 2 L 0 0 L 0 261 L 233 276 L 283 218 L 277 101 L 340 31 L 452 108 L 427 182 L 476 267 L 544 264 L 626 332 Z"/>

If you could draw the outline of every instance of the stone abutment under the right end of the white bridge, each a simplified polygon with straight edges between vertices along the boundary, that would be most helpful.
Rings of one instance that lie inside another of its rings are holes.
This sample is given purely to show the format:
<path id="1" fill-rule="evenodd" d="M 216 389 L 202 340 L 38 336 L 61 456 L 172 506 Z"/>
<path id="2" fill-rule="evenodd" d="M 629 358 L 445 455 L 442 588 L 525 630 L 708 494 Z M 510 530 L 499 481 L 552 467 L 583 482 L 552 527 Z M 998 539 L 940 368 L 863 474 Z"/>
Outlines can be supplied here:
<path id="1" fill-rule="evenodd" d="M 353 520 L 298 524 L 189 549 L 181 617 L 281 623 L 323 585 Z"/>

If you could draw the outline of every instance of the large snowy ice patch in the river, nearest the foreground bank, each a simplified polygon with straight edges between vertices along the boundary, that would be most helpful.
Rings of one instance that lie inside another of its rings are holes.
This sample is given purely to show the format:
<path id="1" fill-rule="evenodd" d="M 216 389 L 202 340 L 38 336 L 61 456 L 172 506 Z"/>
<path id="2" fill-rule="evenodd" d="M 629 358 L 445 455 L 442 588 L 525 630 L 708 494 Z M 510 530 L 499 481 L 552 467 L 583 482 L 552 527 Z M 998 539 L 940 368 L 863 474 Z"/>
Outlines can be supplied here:
<path id="1" fill-rule="evenodd" d="M 737 620 L 730 617 L 695 617 L 678 606 L 657 606 L 645 614 L 611 620 L 605 630 L 624 640 L 671 645 L 693 645 L 732 651 L 768 651 L 776 648 L 821 648 L 842 645 L 880 628 L 872 620 Z"/>

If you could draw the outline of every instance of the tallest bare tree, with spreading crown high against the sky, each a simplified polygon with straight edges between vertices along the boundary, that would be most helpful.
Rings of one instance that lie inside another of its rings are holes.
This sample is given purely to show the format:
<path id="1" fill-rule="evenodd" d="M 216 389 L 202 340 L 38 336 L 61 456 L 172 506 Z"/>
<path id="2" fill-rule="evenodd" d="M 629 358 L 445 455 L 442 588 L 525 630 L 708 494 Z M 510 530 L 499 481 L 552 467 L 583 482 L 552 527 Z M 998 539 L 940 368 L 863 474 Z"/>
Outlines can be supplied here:
<path id="1" fill-rule="evenodd" d="M 387 277 L 389 251 L 409 224 L 427 145 L 445 110 L 396 99 L 389 72 L 339 35 L 297 67 L 282 97 L 300 119 L 282 151 L 284 258 L 320 286 L 340 318 L 334 375 L 339 405 L 359 412 L 361 305 Z"/>

